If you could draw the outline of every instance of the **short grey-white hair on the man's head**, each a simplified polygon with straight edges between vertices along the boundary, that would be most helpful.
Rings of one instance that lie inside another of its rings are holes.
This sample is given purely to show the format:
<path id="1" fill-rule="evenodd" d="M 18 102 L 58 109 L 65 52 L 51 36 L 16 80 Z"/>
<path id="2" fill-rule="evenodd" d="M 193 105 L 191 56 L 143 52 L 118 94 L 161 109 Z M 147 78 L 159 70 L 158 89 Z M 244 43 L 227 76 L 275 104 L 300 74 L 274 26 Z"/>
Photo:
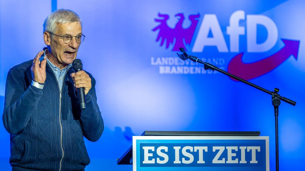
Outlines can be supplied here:
<path id="1" fill-rule="evenodd" d="M 73 23 L 75 21 L 80 22 L 82 26 L 81 18 L 77 13 L 69 9 L 57 9 L 45 19 L 45 22 L 43 23 L 43 32 L 55 33 L 57 24 Z"/>

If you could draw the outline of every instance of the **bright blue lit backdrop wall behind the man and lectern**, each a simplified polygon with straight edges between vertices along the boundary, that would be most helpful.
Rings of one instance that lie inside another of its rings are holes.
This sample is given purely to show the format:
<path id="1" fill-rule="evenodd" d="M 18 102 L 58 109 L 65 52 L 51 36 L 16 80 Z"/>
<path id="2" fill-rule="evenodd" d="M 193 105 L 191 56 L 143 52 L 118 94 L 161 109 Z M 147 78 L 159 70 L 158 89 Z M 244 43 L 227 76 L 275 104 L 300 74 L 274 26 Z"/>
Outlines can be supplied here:
<path id="1" fill-rule="evenodd" d="M 296 106 L 279 108 L 279 162 L 281 170 L 304 168 L 304 1 L 1 0 L 1 109 L 9 68 L 45 47 L 44 19 L 61 8 L 74 10 L 83 21 L 86 39 L 77 57 L 96 79 L 106 126 L 99 141 L 85 142 L 91 158 L 86 170 L 131 170 L 117 166 L 117 158 L 131 145 L 132 135 L 145 130 L 261 131 L 270 137 L 275 170 L 271 96 L 181 61 L 176 54 L 181 45 L 295 100 Z M 3 126 L 0 146 L 0 165 L 9 170 L 9 134 Z"/>

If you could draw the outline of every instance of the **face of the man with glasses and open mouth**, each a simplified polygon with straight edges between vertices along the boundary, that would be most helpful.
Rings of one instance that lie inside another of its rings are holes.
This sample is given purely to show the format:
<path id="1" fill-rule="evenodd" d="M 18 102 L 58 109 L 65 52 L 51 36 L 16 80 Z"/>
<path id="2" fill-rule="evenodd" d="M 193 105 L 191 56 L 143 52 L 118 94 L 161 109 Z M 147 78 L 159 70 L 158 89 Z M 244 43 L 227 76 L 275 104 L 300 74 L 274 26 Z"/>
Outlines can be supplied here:
<path id="1" fill-rule="evenodd" d="M 77 36 L 81 34 L 81 23 L 76 21 L 73 23 L 58 24 L 57 30 L 54 34 L 59 36 L 70 35 Z M 62 37 L 52 35 L 50 47 L 51 54 L 54 57 L 54 61 L 59 65 L 66 66 L 73 62 L 76 58 L 79 43 L 76 42 L 75 37 L 72 37 L 70 43 L 64 43 Z"/>

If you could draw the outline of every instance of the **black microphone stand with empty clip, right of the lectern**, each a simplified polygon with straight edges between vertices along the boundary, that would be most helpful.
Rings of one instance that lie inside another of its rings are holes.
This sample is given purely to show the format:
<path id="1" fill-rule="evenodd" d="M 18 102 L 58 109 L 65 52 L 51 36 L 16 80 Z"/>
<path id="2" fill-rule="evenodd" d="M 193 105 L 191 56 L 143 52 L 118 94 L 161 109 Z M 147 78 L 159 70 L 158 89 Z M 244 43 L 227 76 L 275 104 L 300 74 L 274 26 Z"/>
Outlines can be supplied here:
<path id="1" fill-rule="evenodd" d="M 214 65 L 212 65 L 210 63 L 203 62 L 202 60 L 198 59 L 196 56 L 188 55 L 185 52 L 185 49 L 182 48 L 182 47 L 180 47 L 179 49 L 180 49 L 181 52 L 183 52 L 183 54 L 178 54 L 178 53 L 177 54 L 178 54 L 178 56 L 182 60 L 190 59 L 190 60 L 192 60 L 194 62 L 198 62 L 198 63 L 204 65 L 204 69 L 205 70 L 208 70 L 208 69 L 210 69 L 212 71 L 216 70 L 218 72 L 223 73 L 224 75 L 228 75 L 231 78 L 234 78 L 234 79 L 236 79 L 236 80 L 238 80 L 240 82 L 243 82 L 243 83 L 245 83 L 247 85 L 250 85 L 250 86 L 252 86 L 252 87 L 254 87 L 256 89 L 259 89 L 260 91 L 263 91 L 263 92 L 268 93 L 268 94 L 271 95 L 272 105 L 274 106 L 274 116 L 275 116 L 275 164 L 276 164 L 276 171 L 278 171 L 278 106 L 281 104 L 281 100 L 286 102 L 286 103 L 289 103 L 289 104 L 291 104 L 293 106 L 296 105 L 296 102 L 293 101 L 293 100 L 290 100 L 290 99 L 288 99 L 286 97 L 280 96 L 278 94 L 278 92 L 279 92 L 278 88 L 274 88 L 273 92 L 268 91 L 268 90 L 266 90 L 266 89 L 264 89 L 264 88 L 262 88 L 262 87 L 260 87 L 258 85 L 255 85 L 255 84 L 253 84 L 251 82 L 248 82 L 248 81 L 246 81 L 244 79 L 241 79 L 241 78 L 239 78 L 239 77 L 237 77 L 235 75 L 232 75 L 232 74 L 230 74 L 230 73 L 228 73 L 228 72 L 226 72 L 226 71 L 224 71 L 222 69 L 219 69 L 219 68 L 217 68 L 216 66 L 214 66 Z"/>

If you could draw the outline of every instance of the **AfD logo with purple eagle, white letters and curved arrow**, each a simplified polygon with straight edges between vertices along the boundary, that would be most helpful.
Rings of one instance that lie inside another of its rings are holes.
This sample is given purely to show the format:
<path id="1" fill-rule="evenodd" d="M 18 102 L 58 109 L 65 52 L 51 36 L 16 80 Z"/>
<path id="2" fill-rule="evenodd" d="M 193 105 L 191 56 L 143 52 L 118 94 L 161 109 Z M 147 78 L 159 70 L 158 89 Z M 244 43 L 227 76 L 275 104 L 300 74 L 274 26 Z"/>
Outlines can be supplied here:
<path id="1" fill-rule="evenodd" d="M 160 24 L 152 29 L 152 31 L 159 31 L 156 41 L 161 41 L 160 46 L 163 46 L 164 42 L 166 42 L 166 48 L 174 44 L 172 51 L 179 51 L 179 47 L 184 47 L 186 50 L 191 49 L 192 52 L 203 52 L 205 46 L 215 46 L 218 52 L 240 52 L 239 36 L 246 35 L 247 52 L 266 52 L 274 47 L 278 41 L 278 29 L 272 19 L 264 15 L 245 15 L 244 11 L 239 10 L 232 13 L 229 19 L 229 26 L 226 27 L 225 33 L 230 39 L 230 49 L 228 49 L 215 14 L 205 14 L 203 16 L 194 45 L 189 47 L 194 38 L 200 14 L 188 17 L 191 21 L 191 26 L 188 28 L 182 27 L 185 20 L 183 13 L 175 15 L 179 20 L 174 28 L 170 28 L 167 25 L 167 20 L 169 19 L 167 14 L 159 13 L 158 16 L 159 18 L 156 18 L 155 21 Z M 247 32 L 244 26 L 239 25 L 241 20 L 246 21 Z M 262 43 L 257 43 L 258 25 L 264 26 L 267 30 L 267 39 Z M 213 36 L 209 36 L 209 33 L 212 33 Z M 285 44 L 282 49 L 260 61 L 244 63 L 242 62 L 244 52 L 236 55 L 229 62 L 228 72 L 249 80 L 272 71 L 291 55 L 297 59 L 300 41 L 285 39 L 282 39 L 282 41 Z"/>

